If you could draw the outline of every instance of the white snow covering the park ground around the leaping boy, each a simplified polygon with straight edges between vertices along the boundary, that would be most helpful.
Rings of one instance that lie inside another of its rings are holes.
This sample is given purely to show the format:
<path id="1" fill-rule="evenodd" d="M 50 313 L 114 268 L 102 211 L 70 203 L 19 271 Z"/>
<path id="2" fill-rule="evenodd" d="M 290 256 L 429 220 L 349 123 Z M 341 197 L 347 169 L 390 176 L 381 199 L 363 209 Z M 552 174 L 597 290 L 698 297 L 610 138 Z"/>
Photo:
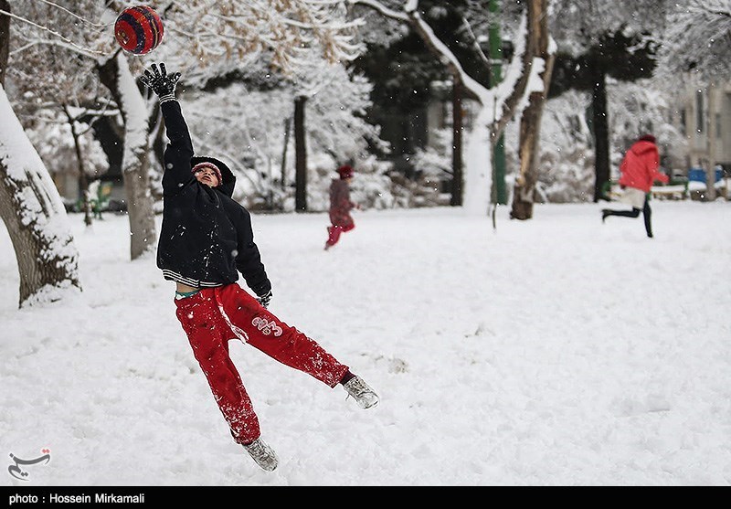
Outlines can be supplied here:
<path id="1" fill-rule="evenodd" d="M 729 485 L 728 202 L 254 214 L 270 310 L 376 388 L 357 408 L 238 341 L 279 468 L 234 441 L 127 217 L 71 216 L 84 291 L 17 309 L 0 227 L 5 486 Z M 26 465 L 18 481 L 8 454 Z"/>

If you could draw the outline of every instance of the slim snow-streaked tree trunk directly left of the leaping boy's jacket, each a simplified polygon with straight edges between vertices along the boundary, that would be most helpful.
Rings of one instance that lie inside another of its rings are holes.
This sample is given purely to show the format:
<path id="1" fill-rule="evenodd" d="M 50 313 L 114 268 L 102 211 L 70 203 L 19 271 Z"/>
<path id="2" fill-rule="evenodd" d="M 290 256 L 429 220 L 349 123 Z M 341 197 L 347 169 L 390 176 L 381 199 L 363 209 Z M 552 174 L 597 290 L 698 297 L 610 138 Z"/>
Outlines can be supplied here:
<path id="1" fill-rule="evenodd" d="M 121 52 L 98 65 L 97 69 L 101 83 L 110 90 L 122 111 L 125 131 L 122 178 L 130 219 L 130 254 L 132 260 L 136 260 L 154 249 L 157 237 L 154 199 L 150 190 L 147 109 Z"/>

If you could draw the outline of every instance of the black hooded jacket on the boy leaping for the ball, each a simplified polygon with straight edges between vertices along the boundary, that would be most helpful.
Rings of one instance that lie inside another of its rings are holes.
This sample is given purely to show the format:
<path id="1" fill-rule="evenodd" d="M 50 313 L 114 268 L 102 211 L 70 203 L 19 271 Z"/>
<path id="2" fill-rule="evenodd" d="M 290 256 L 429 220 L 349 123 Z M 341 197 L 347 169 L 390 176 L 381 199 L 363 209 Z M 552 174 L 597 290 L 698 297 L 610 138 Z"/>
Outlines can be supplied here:
<path id="1" fill-rule="evenodd" d="M 194 156 L 177 101 L 165 101 L 161 109 L 170 143 L 164 152 L 163 225 L 157 266 L 166 280 L 196 288 L 236 282 L 240 272 L 253 292 L 265 295 L 271 283 L 254 243 L 249 210 L 231 198 L 236 177 L 223 162 Z M 191 172 L 203 161 L 221 170 L 223 182 L 219 186 L 200 184 Z"/>

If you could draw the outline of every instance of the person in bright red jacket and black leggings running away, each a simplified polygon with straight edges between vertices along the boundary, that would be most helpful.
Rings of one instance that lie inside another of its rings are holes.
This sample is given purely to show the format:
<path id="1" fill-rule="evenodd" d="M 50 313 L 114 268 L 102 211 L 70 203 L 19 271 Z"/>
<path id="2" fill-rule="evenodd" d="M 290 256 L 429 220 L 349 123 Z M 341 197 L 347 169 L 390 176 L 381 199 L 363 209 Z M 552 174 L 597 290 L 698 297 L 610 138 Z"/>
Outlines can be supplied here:
<path id="1" fill-rule="evenodd" d="M 632 206 L 631 210 L 612 210 L 602 208 L 601 222 L 609 216 L 642 217 L 645 220 L 645 231 L 652 239 L 652 209 L 650 208 L 650 189 L 655 180 L 667 184 L 668 175 L 660 173 L 660 153 L 652 134 L 645 134 L 635 142 L 620 164 L 620 187 L 624 190 L 621 201 Z"/>

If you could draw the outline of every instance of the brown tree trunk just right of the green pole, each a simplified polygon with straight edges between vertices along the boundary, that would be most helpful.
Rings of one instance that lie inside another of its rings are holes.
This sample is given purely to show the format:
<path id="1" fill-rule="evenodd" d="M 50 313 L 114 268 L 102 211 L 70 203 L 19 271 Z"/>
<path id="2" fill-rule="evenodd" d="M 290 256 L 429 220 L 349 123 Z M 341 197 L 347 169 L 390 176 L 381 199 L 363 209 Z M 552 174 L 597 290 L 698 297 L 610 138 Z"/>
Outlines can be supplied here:
<path id="1" fill-rule="evenodd" d="M 520 119 L 520 169 L 515 179 L 513 190 L 513 206 L 510 217 L 526 220 L 533 217 L 535 183 L 538 180 L 537 162 L 540 153 L 541 119 L 546 104 L 546 94 L 551 82 L 554 66 L 554 55 L 548 53 L 548 16 L 547 0 L 531 0 L 529 8 L 536 9 L 537 15 L 529 16 L 532 22 L 529 30 L 529 44 L 535 45 L 535 56 L 543 58 L 546 68 L 541 74 L 543 91 L 532 92 L 528 96 L 528 106 Z"/>

